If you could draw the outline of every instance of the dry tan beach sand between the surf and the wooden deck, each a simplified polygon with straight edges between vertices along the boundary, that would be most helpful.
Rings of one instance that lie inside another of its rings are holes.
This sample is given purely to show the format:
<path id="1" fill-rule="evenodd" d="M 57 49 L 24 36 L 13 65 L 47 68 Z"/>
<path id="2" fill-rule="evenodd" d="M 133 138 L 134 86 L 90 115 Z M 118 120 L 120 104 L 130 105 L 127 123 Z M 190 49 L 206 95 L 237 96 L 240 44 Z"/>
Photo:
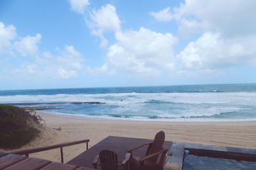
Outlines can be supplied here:
<path id="1" fill-rule="evenodd" d="M 47 128 L 33 142 L 20 149 L 54 145 L 68 141 L 90 139 L 89 148 L 107 136 L 153 139 L 156 132 L 164 131 L 167 141 L 205 145 L 256 148 L 256 122 L 139 122 L 88 120 L 58 117 L 38 113 Z M 61 127 L 61 131 L 53 128 Z M 63 148 L 64 162 L 85 150 L 85 144 Z M 19 150 L 20 150 L 19 149 Z M 4 150 L 2 150 L 4 151 Z M 6 151 L 5 151 L 6 152 Z M 10 152 L 7 151 L 7 152 Z M 60 149 L 29 155 L 60 162 Z"/>

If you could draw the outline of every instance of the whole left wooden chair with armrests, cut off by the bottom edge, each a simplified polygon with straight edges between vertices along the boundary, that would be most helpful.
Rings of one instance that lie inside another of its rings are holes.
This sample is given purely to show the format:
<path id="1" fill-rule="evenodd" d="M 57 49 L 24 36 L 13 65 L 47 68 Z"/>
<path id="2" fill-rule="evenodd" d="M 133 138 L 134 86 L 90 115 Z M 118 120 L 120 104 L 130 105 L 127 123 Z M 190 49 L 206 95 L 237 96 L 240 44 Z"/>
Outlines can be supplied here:
<path id="1" fill-rule="evenodd" d="M 93 160 L 93 167 L 97 169 L 100 166 L 103 170 L 128 170 L 128 160 L 131 157 L 131 153 L 126 153 L 125 159 L 122 164 L 118 164 L 117 155 L 110 150 L 102 150 Z M 100 159 L 100 164 L 97 164 Z"/>

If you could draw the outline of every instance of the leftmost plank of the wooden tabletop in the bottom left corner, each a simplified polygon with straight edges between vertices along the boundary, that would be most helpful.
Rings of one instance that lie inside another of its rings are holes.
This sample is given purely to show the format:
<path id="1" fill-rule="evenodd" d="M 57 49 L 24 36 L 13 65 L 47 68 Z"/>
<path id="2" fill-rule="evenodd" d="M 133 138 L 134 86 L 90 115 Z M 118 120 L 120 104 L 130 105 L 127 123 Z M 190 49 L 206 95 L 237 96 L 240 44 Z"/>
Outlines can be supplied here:
<path id="1" fill-rule="evenodd" d="M 27 157 L 25 156 L 15 154 L 4 155 L 3 157 L 0 157 L 0 169 L 12 166 L 13 164 L 16 164 L 17 162 L 20 162 L 26 158 Z"/>

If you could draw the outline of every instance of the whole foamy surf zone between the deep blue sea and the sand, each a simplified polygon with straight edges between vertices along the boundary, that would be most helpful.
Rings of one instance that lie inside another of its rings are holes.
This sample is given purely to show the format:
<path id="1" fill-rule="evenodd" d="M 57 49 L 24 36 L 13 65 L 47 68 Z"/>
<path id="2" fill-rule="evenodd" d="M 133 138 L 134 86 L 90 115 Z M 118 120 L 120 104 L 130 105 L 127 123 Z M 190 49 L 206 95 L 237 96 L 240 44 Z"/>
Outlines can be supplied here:
<path id="1" fill-rule="evenodd" d="M 92 101 L 99 104 L 83 104 Z M 256 117 L 256 92 L 42 94 L 0 96 L 0 103 L 18 106 L 33 103 L 35 107 L 61 107 L 58 112 L 63 115 L 122 120 L 191 121 Z"/>

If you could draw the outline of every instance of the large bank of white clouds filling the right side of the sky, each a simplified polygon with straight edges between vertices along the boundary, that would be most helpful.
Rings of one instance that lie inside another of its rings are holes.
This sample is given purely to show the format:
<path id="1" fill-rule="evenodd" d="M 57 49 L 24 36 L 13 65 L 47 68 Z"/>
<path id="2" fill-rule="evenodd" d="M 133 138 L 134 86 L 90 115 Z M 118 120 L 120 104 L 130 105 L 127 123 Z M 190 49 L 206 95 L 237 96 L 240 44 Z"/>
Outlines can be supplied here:
<path id="1" fill-rule="evenodd" d="M 177 55 L 179 70 L 255 65 L 255 7 L 256 1 L 186 0 L 173 8 L 182 36 L 201 34 Z"/>

